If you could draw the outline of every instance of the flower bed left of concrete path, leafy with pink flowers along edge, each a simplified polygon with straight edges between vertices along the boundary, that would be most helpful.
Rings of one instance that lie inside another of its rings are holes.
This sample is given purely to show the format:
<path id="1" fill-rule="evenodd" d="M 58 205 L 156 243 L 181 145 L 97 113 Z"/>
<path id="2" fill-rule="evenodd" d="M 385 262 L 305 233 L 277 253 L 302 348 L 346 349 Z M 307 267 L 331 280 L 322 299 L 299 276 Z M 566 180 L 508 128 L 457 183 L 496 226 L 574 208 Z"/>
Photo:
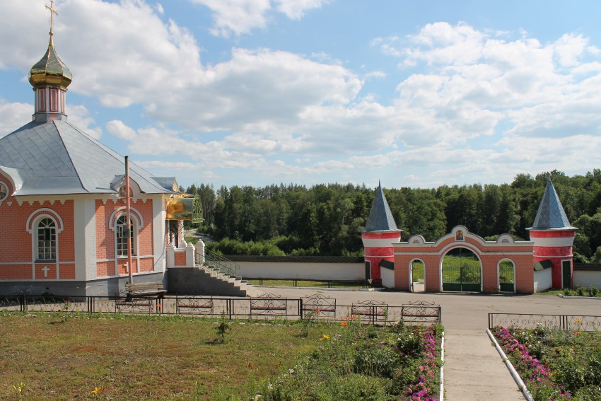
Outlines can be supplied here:
<path id="1" fill-rule="evenodd" d="M 442 327 L 373 327 L 346 319 L 337 335 L 279 376 L 263 380 L 265 400 L 438 399 Z M 324 326 L 327 331 L 327 326 Z"/>

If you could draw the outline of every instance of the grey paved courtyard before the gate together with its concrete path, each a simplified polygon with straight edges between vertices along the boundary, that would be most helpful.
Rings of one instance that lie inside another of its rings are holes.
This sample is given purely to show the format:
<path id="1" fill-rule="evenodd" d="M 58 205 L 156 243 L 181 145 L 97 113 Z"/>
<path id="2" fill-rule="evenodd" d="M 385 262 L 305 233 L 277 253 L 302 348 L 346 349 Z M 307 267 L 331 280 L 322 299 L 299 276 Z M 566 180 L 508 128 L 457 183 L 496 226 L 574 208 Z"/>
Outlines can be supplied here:
<path id="1" fill-rule="evenodd" d="M 601 315 L 601 298 L 561 298 L 552 295 L 425 294 L 395 291 L 334 291 L 257 287 L 282 298 L 327 294 L 338 305 L 383 301 L 390 306 L 428 301 L 441 306 L 445 326 L 445 400 L 524 400 L 496 349 L 486 335 L 489 313 L 542 315 Z"/>

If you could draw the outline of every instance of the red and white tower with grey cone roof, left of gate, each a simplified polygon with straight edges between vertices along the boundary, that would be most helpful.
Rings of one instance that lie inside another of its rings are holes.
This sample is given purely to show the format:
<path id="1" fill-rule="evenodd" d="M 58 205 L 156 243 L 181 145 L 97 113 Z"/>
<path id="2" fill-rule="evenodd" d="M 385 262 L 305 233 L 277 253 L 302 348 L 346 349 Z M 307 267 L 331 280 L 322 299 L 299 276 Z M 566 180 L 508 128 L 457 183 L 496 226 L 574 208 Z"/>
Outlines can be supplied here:
<path id="1" fill-rule="evenodd" d="M 392 243 L 398 243 L 401 240 L 401 231 L 397 228 L 390 207 L 388 207 L 388 202 L 386 202 L 382 185 L 378 182 L 366 228 L 361 232 L 366 261 L 366 276 L 369 274 L 366 279 L 381 279 L 380 264 L 383 261 L 394 265 L 395 253 Z"/>

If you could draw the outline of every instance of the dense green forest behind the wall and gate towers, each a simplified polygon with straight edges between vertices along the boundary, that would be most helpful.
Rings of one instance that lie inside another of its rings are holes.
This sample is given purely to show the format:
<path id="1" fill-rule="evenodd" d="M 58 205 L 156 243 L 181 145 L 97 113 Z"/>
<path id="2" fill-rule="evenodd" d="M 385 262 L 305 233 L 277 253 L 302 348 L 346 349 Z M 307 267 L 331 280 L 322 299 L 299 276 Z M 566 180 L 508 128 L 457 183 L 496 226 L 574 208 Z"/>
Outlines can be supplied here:
<path id="1" fill-rule="evenodd" d="M 576 262 L 601 262 L 601 170 L 568 177 L 550 173 L 572 226 Z M 435 189 L 384 188 L 402 229 L 433 241 L 462 224 L 486 240 L 502 233 L 529 238 L 549 173 L 519 174 L 510 184 L 442 185 Z M 183 189 L 182 189 L 183 190 Z M 375 189 L 366 185 L 296 184 L 266 187 L 191 185 L 199 194 L 204 223 L 199 231 L 218 240 L 224 255 L 363 255 L 365 228 Z"/>

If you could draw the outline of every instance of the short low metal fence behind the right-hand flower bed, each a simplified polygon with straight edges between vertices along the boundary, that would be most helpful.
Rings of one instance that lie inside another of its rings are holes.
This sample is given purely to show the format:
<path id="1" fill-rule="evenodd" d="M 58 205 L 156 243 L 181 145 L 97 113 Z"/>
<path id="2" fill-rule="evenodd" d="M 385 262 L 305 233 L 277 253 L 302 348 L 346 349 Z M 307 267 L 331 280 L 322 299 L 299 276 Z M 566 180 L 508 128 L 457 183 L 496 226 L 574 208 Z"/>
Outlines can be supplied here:
<path id="1" fill-rule="evenodd" d="M 601 330 L 601 316 L 489 313 L 489 329 L 495 326 L 518 329 L 534 329 L 544 326 L 564 331 L 598 332 Z"/>

